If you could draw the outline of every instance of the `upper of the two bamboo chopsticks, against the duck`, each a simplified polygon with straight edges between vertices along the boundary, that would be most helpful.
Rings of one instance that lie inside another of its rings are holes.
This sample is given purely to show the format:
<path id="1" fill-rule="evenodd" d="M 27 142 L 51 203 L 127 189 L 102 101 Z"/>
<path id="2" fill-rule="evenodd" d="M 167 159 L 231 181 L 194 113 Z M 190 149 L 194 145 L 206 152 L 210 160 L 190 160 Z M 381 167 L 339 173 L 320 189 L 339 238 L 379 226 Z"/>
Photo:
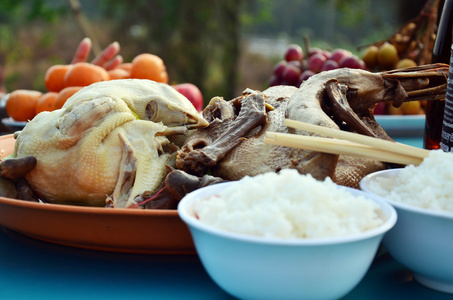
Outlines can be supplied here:
<path id="1" fill-rule="evenodd" d="M 429 155 L 429 150 L 426 150 L 426 149 L 412 147 L 412 146 L 397 143 L 397 142 L 381 140 L 378 138 L 369 137 L 369 136 L 358 134 L 358 133 L 332 129 L 332 128 L 328 128 L 328 127 L 324 127 L 324 126 L 304 123 L 304 122 L 290 120 L 290 119 L 285 119 L 284 124 L 288 127 L 297 128 L 297 129 L 305 130 L 305 131 L 312 132 L 312 133 L 317 133 L 317 134 L 323 135 L 323 136 L 329 136 L 329 137 L 334 137 L 334 138 L 338 138 L 338 139 L 348 140 L 348 141 L 359 143 L 359 144 L 369 145 L 369 146 L 372 146 L 372 147 L 375 147 L 375 148 L 378 148 L 381 150 L 391 151 L 391 152 L 395 152 L 395 153 L 399 153 L 399 154 L 403 154 L 403 155 L 407 155 L 407 156 L 426 158 Z"/>

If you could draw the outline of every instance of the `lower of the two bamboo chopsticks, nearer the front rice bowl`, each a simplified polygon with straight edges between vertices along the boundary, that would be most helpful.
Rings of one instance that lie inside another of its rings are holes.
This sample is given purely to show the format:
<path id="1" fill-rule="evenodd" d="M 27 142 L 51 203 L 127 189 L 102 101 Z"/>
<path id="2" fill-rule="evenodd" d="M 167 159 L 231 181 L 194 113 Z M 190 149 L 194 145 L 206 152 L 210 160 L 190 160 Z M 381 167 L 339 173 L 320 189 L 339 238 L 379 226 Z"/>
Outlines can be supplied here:
<path id="1" fill-rule="evenodd" d="M 267 132 L 264 142 L 284 147 L 301 148 L 331 154 L 343 154 L 397 164 L 419 165 L 423 161 L 422 157 L 408 156 L 347 140 L 317 136 Z"/>

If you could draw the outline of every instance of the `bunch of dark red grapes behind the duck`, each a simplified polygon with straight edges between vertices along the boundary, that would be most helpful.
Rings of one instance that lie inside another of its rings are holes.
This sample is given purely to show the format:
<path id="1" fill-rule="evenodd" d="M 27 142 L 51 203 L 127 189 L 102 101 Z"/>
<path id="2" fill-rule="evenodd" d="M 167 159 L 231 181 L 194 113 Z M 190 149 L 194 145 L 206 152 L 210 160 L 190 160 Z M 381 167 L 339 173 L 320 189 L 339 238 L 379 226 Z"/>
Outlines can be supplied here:
<path id="1" fill-rule="evenodd" d="M 365 69 L 365 63 L 345 49 L 326 51 L 311 48 L 305 57 L 302 47 L 297 44 L 289 45 L 284 59 L 274 66 L 269 86 L 293 85 L 299 87 L 302 82 L 314 74 L 338 68 Z"/>

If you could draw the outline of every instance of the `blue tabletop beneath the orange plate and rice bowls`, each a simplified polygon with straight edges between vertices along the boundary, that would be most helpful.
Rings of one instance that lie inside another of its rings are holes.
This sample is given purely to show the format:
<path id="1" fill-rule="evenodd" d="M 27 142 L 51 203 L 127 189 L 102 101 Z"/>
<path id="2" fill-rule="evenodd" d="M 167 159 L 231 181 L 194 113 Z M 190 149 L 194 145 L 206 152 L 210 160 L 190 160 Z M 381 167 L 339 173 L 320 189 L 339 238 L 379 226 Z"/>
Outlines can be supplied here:
<path id="1" fill-rule="evenodd" d="M 421 147 L 421 138 L 397 139 Z M 239 267 L 239 266 L 238 266 Z M 347 270 L 345 270 L 347 271 Z M 326 287 L 328 288 L 328 287 Z M 343 299 L 453 299 L 426 288 L 388 254 Z M 197 255 L 92 251 L 0 228 L 0 299 L 233 299 Z"/>

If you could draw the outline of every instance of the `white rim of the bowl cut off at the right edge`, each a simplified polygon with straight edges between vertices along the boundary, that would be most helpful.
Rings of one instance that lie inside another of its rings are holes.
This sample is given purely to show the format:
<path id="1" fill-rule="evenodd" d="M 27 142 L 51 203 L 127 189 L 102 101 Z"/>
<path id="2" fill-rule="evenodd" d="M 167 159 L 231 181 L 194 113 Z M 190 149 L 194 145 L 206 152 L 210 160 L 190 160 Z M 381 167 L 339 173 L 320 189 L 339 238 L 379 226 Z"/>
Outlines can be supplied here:
<path id="1" fill-rule="evenodd" d="M 448 212 L 448 211 L 441 211 L 441 210 L 433 210 L 429 208 L 423 208 L 415 205 L 410 205 L 402 202 L 396 202 L 391 199 L 388 199 L 384 196 L 377 195 L 373 193 L 369 188 L 368 188 L 368 182 L 372 180 L 373 178 L 377 177 L 392 177 L 395 175 L 390 175 L 390 174 L 398 174 L 403 168 L 394 168 L 394 169 L 386 169 L 386 170 L 381 170 L 381 171 L 376 171 L 374 173 L 368 174 L 365 177 L 360 180 L 360 189 L 368 192 L 370 194 L 373 194 L 377 197 L 380 197 L 384 199 L 384 201 L 387 201 L 390 203 L 392 206 L 402 209 L 402 210 L 407 210 L 413 213 L 418 213 L 422 215 L 429 215 L 433 217 L 441 217 L 441 218 L 446 218 L 446 219 L 453 219 L 453 213 Z"/>

